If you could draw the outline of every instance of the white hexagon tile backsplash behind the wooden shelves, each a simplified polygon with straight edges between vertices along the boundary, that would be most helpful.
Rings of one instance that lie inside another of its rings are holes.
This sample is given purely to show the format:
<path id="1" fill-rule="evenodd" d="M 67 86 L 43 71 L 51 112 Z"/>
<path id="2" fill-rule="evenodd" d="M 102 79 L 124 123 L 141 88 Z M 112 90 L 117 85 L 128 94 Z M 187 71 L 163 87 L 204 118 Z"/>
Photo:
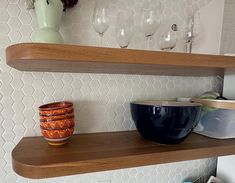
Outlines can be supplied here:
<path id="1" fill-rule="evenodd" d="M 139 16 L 144 0 L 111 0 L 113 13 L 123 7 Z M 20 72 L 5 64 L 5 48 L 31 41 L 37 30 L 34 11 L 25 9 L 25 0 L 1 0 L 0 6 L 0 182 L 179 183 L 187 177 L 214 173 L 216 159 L 131 168 L 46 180 L 30 180 L 16 175 L 11 167 L 11 151 L 23 136 L 40 135 L 37 107 L 43 103 L 71 100 L 75 104 L 76 133 L 135 129 L 129 103 L 133 100 L 195 96 L 221 90 L 215 77 L 168 77 L 108 74 Z M 182 16 L 196 11 L 209 0 L 162 0 L 164 14 L 183 22 Z M 79 0 L 63 17 L 61 32 L 67 43 L 97 45 L 98 35 L 90 23 L 93 0 Z M 182 11 L 183 10 L 183 11 Z M 104 45 L 117 47 L 114 14 Z M 138 22 L 131 48 L 144 49 L 145 40 Z M 180 24 L 180 23 L 179 23 Z M 183 25 L 183 24 L 182 24 Z M 157 49 L 152 45 L 152 49 Z M 178 48 L 182 51 L 182 48 Z M 53 67 L 53 66 L 52 66 Z"/>

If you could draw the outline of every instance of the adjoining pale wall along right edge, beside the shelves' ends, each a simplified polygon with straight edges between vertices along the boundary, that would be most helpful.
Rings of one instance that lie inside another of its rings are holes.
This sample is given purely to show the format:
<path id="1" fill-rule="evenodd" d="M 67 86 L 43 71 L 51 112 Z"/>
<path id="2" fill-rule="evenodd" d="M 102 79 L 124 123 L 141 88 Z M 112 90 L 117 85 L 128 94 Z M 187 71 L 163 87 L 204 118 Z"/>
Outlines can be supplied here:
<path id="1" fill-rule="evenodd" d="M 233 53 L 235 56 L 235 1 L 225 0 L 223 33 L 221 38 L 221 54 Z M 235 99 L 234 70 L 227 70 L 224 76 L 223 95 Z M 217 176 L 224 183 L 235 183 L 235 156 L 218 158 Z"/>

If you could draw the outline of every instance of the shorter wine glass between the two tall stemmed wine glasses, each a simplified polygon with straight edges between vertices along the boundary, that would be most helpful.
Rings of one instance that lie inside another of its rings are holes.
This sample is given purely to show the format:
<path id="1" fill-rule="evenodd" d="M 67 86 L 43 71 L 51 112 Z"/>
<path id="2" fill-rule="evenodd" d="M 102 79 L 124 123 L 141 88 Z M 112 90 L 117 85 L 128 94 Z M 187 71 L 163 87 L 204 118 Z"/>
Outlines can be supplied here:
<path id="1" fill-rule="evenodd" d="M 117 15 L 116 38 L 121 48 L 127 48 L 133 32 L 134 13 L 132 10 L 120 11 Z"/>

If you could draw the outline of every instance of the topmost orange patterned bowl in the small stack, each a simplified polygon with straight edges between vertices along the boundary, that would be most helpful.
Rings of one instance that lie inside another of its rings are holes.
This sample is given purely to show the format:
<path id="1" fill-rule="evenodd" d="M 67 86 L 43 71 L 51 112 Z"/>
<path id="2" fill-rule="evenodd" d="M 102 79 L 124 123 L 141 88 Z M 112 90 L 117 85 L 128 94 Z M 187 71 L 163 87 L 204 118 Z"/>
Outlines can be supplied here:
<path id="1" fill-rule="evenodd" d="M 39 107 L 40 116 L 63 115 L 73 112 L 72 102 L 56 102 Z"/>

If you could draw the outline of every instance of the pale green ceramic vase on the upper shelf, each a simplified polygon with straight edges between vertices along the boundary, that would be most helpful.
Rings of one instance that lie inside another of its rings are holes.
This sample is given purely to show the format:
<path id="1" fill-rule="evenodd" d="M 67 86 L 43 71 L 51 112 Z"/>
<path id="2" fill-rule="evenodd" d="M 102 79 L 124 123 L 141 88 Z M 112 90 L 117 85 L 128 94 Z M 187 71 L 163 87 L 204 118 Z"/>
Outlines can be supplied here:
<path id="1" fill-rule="evenodd" d="M 34 7 L 39 25 L 33 41 L 42 43 L 63 43 L 59 29 L 63 13 L 61 0 L 35 0 Z"/>

